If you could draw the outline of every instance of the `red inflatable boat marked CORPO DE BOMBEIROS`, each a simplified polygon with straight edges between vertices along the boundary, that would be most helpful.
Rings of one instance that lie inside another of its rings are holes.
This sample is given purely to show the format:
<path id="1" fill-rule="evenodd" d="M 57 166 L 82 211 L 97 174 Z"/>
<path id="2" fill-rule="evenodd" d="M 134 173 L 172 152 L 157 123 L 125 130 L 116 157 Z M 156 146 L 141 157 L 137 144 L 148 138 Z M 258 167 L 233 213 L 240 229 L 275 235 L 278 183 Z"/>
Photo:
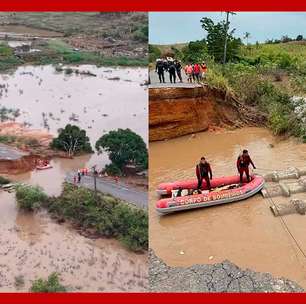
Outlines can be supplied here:
<path id="1" fill-rule="evenodd" d="M 252 175 L 251 181 L 240 185 L 239 176 L 217 177 L 211 180 L 212 190 L 208 191 L 206 182 L 203 181 L 201 194 L 189 194 L 160 199 L 156 203 L 156 210 L 160 213 L 171 213 L 193 208 L 202 208 L 219 204 L 231 203 L 247 199 L 258 193 L 264 186 L 264 178 L 259 175 Z M 162 183 L 157 189 L 160 195 L 172 195 L 173 190 L 193 190 L 197 188 L 197 180 L 176 181 L 173 183 Z"/>

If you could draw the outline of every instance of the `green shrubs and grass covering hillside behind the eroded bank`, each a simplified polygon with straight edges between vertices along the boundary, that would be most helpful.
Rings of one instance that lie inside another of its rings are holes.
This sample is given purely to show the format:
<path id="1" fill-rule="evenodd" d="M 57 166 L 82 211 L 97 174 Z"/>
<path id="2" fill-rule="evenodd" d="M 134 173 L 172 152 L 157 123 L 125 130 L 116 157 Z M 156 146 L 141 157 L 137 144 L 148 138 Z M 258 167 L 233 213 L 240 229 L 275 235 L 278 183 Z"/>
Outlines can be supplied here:
<path id="1" fill-rule="evenodd" d="M 275 134 L 293 135 L 306 142 L 306 41 L 303 37 L 290 39 L 284 36 L 254 45 L 237 41 L 228 53 L 227 63 L 221 64 L 222 27 L 218 25 L 219 33 L 216 33 L 216 25 L 210 23 L 210 27 L 204 29 L 208 35 L 214 34 L 214 39 L 167 48 L 151 46 L 150 59 L 154 60 L 161 53 L 177 57 L 184 63 L 205 61 L 208 85 L 224 90 L 264 113 Z M 213 46 L 219 50 L 217 54 L 214 54 Z"/>

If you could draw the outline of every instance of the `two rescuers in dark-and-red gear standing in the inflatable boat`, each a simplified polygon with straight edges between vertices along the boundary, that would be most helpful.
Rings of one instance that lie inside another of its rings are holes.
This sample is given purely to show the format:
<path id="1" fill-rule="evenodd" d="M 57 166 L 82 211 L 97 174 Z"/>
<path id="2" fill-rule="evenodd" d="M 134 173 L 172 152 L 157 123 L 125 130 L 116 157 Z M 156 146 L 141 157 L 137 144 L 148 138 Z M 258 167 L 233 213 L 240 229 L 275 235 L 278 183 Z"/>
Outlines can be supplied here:
<path id="1" fill-rule="evenodd" d="M 247 182 L 250 182 L 249 166 L 252 165 L 256 169 L 248 150 L 243 150 L 238 156 L 236 166 L 240 175 L 240 184 L 243 183 L 243 175 L 246 175 Z M 196 176 L 198 179 L 198 190 L 201 191 L 203 180 L 206 182 L 207 190 L 211 190 L 210 180 L 212 179 L 212 169 L 205 157 L 201 157 L 200 163 L 196 166 Z"/>

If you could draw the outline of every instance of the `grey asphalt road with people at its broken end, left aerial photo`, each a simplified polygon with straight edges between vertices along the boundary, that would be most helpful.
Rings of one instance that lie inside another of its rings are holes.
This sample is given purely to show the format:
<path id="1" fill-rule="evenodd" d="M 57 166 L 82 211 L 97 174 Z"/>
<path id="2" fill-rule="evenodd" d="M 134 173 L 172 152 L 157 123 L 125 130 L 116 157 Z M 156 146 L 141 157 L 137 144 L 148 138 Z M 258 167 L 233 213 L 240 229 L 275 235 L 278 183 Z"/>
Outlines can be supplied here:
<path id="1" fill-rule="evenodd" d="M 76 175 L 75 172 L 71 172 L 67 175 L 66 181 L 73 183 L 73 177 Z M 82 176 L 81 183 L 78 184 L 85 188 L 94 190 L 94 179 L 92 176 Z M 123 183 L 116 183 L 106 180 L 104 178 L 97 178 L 97 190 L 103 193 L 110 194 L 116 198 L 127 201 L 138 208 L 148 208 L 148 193 L 128 187 Z"/>

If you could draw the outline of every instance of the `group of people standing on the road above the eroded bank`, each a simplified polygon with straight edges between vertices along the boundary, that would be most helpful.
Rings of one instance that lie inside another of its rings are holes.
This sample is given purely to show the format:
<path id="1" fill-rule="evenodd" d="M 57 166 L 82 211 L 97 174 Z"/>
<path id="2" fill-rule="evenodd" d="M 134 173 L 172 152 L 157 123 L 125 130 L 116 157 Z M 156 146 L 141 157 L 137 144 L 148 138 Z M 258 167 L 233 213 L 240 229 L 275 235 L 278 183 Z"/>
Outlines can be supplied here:
<path id="1" fill-rule="evenodd" d="M 165 83 L 165 72 L 169 73 L 171 83 L 176 83 L 177 79 L 180 82 L 183 82 L 182 69 L 183 66 L 180 60 L 173 59 L 172 57 L 156 59 L 155 72 L 158 74 L 160 83 Z M 201 64 L 189 63 L 184 67 L 184 72 L 187 76 L 188 82 L 200 82 L 205 78 L 205 74 L 207 73 L 207 65 L 205 62 L 202 62 Z"/>

